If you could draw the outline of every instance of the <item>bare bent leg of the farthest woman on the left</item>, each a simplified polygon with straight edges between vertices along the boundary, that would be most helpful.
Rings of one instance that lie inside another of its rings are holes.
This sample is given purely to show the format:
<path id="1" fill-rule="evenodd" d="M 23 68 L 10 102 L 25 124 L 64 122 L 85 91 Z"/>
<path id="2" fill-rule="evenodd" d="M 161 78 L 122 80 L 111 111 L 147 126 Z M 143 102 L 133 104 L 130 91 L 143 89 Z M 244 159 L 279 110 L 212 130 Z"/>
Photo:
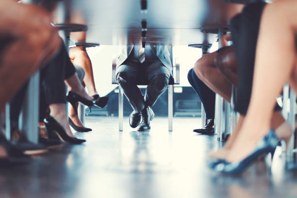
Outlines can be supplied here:
<path id="1" fill-rule="evenodd" d="M 90 96 L 98 94 L 95 87 L 92 63 L 85 48 L 83 46 L 71 48 L 69 56 L 74 65 L 81 66 L 85 71 L 83 82 L 88 90 L 88 94 Z"/>

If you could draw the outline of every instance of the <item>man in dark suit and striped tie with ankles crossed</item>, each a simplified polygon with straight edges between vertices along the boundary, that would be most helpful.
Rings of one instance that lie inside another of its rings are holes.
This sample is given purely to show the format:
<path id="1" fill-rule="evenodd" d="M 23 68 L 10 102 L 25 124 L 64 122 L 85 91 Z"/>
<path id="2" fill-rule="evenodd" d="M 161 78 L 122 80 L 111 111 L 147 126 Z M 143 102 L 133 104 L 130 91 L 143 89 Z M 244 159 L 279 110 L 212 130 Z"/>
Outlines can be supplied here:
<path id="1" fill-rule="evenodd" d="M 150 106 L 165 92 L 172 79 L 170 53 L 166 46 L 127 46 L 116 60 L 116 81 L 123 88 L 133 112 L 129 122 L 137 131 L 150 130 L 154 113 Z M 137 84 L 148 84 L 145 96 Z"/>

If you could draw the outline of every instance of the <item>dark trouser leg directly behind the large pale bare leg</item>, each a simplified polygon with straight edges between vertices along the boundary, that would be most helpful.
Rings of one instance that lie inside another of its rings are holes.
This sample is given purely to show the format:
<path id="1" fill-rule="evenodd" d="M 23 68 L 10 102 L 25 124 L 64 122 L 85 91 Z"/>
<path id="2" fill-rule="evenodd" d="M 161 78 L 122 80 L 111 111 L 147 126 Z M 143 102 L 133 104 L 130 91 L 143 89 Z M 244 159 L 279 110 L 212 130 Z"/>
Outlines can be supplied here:
<path id="1" fill-rule="evenodd" d="M 266 3 L 252 3 L 231 19 L 231 35 L 238 61 L 238 86 L 235 111 L 247 114 L 252 90 L 255 56 L 260 20 Z M 275 111 L 281 110 L 276 105 Z"/>

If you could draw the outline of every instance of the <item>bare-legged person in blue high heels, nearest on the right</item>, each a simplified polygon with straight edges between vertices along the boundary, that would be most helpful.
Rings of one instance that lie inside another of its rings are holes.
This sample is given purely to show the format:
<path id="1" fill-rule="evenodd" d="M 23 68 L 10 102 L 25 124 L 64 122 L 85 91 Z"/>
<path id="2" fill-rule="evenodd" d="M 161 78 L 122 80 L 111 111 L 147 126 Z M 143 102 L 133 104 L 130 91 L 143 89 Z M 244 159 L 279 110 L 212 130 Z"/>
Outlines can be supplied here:
<path id="1" fill-rule="evenodd" d="M 264 8 L 247 115 L 225 161 L 215 166 L 217 171 L 240 173 L 260 155 L 267 152 L 273 155 L 278 138 L 291 137 L 290 125 L 282 133 L 271 126 L 275 98 L 283 85 L 289 82 L 297 92 L 296 9 L 294 0 L 278 0 Z"/>

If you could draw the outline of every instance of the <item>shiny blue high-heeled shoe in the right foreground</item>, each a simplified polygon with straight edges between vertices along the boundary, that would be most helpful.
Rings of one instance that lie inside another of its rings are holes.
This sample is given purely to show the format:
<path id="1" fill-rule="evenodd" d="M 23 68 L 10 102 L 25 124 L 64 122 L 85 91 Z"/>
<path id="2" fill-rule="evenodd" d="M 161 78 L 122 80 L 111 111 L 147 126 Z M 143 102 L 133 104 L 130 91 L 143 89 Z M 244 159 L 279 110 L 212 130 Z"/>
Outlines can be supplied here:
<path id="1" fill-rule="evenodd" d="M 223 160 L 214 166 L 216 172 L 239 174 L 242 173 L 249 165 L 256 161 L 260 156 L 264 154 L 273 153 L 278 144 L 278 137 L 274 130 L 269 130 L 268 134 L 264 138 L 258 141 L 255 149 L 242 161 L 239 162 L 227 162 Z"/>

